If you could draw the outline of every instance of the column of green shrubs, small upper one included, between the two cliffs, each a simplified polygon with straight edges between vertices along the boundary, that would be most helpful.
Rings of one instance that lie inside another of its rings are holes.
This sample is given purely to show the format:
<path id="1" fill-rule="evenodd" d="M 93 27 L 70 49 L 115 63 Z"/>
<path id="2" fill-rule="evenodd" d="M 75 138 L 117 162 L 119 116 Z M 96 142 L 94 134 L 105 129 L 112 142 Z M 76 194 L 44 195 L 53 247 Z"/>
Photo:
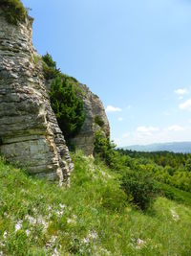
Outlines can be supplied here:
<path id="1" fill-rule="evenodd" d="M 78 82 L 62 74 L 50 54 L 47 53 L 42 59 L 45 78 L 52 80 L 51 105 L 59 128 L 68 141 L 79 132 L 85 120 L 84 104 L 78 97 L 80 93 Z"/>

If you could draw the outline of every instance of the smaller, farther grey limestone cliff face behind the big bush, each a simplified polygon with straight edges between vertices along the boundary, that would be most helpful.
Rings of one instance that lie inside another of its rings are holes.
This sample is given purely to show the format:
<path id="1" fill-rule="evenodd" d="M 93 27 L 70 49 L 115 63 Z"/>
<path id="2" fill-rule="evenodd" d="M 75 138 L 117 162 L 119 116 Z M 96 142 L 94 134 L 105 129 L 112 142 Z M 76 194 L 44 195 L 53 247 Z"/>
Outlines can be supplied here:
<path id="1" fill-rule="evenodd" d="M 110 125 L 105 113 L 105 108 L 98 96 L 91 92 L 86 85 L 79 84 L 79 86 L 82 90 L 81 97 L 84 102 L 86 119 L 80 132 L 72 139 L 72 143 L 86 155 L 92 155 L 95 149 L 95 131 L 98 128 L 95 123 L 96 116 L 99 116 L 104 122 L 102 129 L 107 137 L 110 136 Z"/>

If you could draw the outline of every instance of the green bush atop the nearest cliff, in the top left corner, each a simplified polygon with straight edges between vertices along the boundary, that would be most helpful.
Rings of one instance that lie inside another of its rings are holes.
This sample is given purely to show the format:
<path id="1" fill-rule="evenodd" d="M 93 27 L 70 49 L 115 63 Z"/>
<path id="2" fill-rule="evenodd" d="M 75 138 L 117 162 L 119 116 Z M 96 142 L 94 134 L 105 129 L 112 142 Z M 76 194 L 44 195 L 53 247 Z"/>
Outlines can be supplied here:
<path id="1" fill-rule="evenodd" d="M 1 0 L 0 8 L 5 13 L 8 22 L 16 25 L 18 21 L 24 22 L 27 12 L 20 0 Z"/>

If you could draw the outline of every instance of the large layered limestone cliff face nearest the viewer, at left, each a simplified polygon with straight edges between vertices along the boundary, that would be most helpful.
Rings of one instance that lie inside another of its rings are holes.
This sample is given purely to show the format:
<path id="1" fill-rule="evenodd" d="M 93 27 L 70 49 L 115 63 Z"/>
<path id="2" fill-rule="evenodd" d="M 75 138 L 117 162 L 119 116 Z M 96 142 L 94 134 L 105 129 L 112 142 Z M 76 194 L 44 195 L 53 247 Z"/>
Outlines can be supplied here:
<path id="1" fill-rule="evenodd" d="M 32 19 L 17 26 L 0 12 L 0 153 L 33 175 L 70 182 L 73 163 L 32 47 Z"/>

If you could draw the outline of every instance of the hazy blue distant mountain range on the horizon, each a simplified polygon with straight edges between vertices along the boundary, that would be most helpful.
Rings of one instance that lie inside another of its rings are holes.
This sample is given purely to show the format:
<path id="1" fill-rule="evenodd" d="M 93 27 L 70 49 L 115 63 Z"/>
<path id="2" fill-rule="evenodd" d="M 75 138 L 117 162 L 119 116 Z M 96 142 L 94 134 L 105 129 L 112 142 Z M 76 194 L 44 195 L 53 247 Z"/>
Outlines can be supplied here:
<path id="1" fill-rule="evenodd" d="M 173 152 L 190 152 L 191 142 L 171 142 L 155 143 L 149 145 L 133 145 L 123 147 L 124 150 L 130 151 L 173 151 Z"/>

